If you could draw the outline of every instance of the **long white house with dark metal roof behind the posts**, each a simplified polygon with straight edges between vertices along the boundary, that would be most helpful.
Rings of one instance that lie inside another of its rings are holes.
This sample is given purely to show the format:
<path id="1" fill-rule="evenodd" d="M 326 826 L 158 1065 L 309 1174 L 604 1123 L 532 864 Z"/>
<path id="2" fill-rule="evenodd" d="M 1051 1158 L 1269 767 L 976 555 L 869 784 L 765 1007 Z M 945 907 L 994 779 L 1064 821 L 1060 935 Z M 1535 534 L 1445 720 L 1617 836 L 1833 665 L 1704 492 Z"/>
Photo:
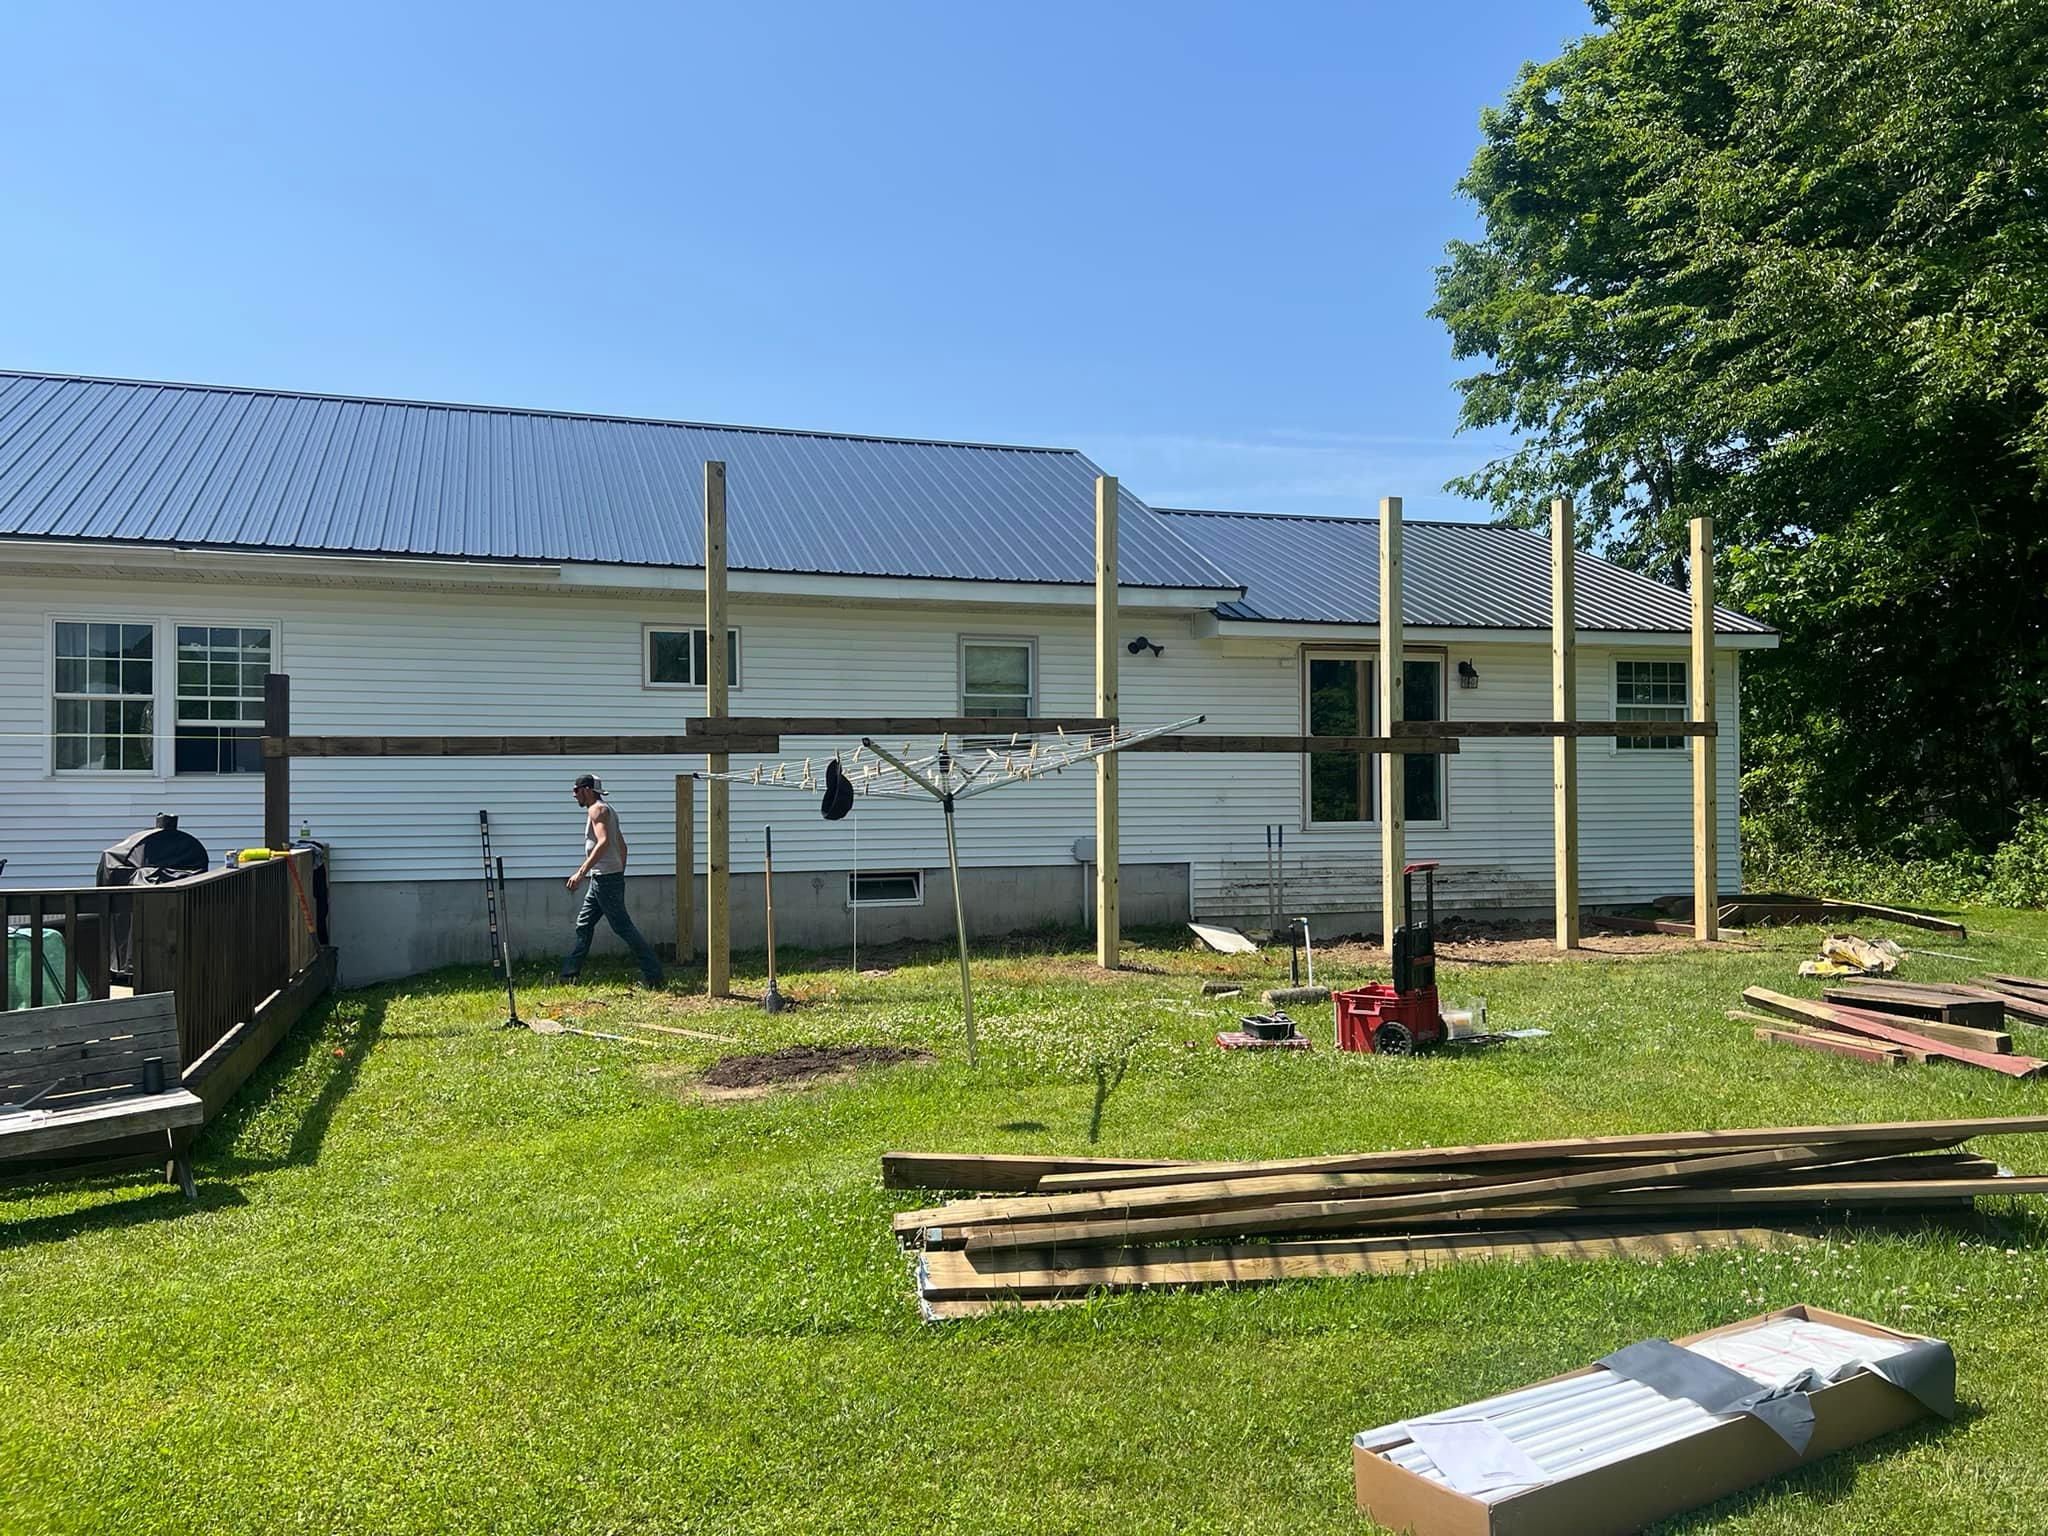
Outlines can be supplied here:
<path id="1" fill-rule="evenodd" d="M 1077 453 L 12 373 L 0 883 L 88 883 L 98 850 L 156 811 L 215 856 L 260 842 L 266 670 L 291 674 L 303 735 L 682 729 L 702 711 L 707 459 L 729 467 L 733 715 L 1094 713 L 1098 469 Z M 1171 512 L 1126 487 L 1120 580 L 1124 637 L 1149 641 L 1122 657 L 1126 725 L 1372 731 L 1370 520 Z M 1540 537 L 1409 522 L 1405 582 L 1409 717 L 1550 715 Z M 1581 715 L 1679 719 L 1683 594 L 1589 555 L 1577 586 Z M 1733 887 L 1739 655 L 1776 637 L 1726 610 L 1716 631 Z M 848 745 L 784 737 L 780 756 Z M 1546 911 L 1546 745 L 1468 739 L 1411 764 L 1409 854 L 1442 860 L 1446 903 Z M 584 770 L 621 811 L 641 926 L 670 936 L 674 782 L 698 766 L 297 760 L 293 831 L 332 844 L 344 979 L 483 958 L 477 809 L 518 946 L 561 946 Z M 1124 922 L 1257 920 L 1278 825 L 1288 911 L 1376 928 L 1370 774 L 1370 758 L 1128 758 Z M 1690 887 L 1675 737 L 1589 739 L 1581 817 L 1587 903 Z M 737 786 L 735 942 L 760 942 L 770 825 L 784 942 L 846 946 L 856 918 L 862 942 L 950 932 L 932 805 L 862 801 L 827 823 L 807 797 Z M 1081 920 L 1090 774 L 977 799 L 958 829 L 973 930 Z"/>

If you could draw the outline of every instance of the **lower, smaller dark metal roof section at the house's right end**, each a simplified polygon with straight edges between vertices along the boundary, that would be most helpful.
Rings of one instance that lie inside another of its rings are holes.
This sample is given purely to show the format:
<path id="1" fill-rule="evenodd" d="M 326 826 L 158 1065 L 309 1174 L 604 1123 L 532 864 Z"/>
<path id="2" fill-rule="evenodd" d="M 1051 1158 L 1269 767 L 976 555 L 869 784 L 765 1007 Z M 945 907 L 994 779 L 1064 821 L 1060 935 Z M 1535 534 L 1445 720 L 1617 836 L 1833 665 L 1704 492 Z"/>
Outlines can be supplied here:
<path id="1" fill-rule="evenodd" d="M 1270 512 L 1159 508 L 1188 543 L 1231 571 L 1245 596 L 1219 618 L 1303 625 L 1380 621 L 1376 518 L 1303 518 Z M 1493 522 L 1401 524 L 1403 623 L 1430 629 L 1548 629 L 1550 541 Z M 1692 629 L 1692 600 L 1597 555 L 1575 567 L 1579 629 L 1669 633 Z M 1769 635 L 1769 625 L 1714 610 L 1720 635 Z"/>

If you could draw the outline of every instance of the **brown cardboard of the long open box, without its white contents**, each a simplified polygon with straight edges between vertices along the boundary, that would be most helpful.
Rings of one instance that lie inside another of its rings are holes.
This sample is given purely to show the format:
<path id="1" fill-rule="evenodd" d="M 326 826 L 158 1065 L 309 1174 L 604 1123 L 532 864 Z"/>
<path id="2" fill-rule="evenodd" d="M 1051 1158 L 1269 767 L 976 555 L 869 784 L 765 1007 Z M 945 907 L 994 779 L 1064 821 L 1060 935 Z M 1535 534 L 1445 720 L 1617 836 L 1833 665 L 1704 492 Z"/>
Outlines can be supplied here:
<path id="1" fill-rule="evenodd" d="M 1923 1343 L 1915 1333 L 1898 1333 L 1860 1317 L 1843 1317 L 1819 1307 L 1786 1307 L 1739 1323 L 1673 1339 L 1690 1346 L 1722 1333 L 1737 1333 L 1780 1317 L 1831 1323 L 1851 1333 Z M 1550 1380 L 1589 1376 L 1599 1366 L 1573 1370 Z M 1532 1382 L 1544 1386 L 1548 1382 Z M 1831 1456 L 1847 1446 L 1874 1440 L 1921 1419 L 1929 1409 L 1911 1393 L 1872 1372 L 1823 1386 L 1810 1395 L 1812 1440 L 1794 1452 L 1769 1425 L 1749 1415 L 1716 1423 L 1700 1434 L 1653 1446 L 1626 1460 L 1563 1475 L 1542 1487 L 1509 1493 L 1487 1503 L 1434 1479 L 1397 1466 L 1376 1450 L 1352 1446 L 1358 1507 L 1378 1524 L 1413 1536 L 1624 1536 L 1624 1532 L 1698 1509 L 1741 1489 L 1763 1483 L 1794 1466 Z"/>

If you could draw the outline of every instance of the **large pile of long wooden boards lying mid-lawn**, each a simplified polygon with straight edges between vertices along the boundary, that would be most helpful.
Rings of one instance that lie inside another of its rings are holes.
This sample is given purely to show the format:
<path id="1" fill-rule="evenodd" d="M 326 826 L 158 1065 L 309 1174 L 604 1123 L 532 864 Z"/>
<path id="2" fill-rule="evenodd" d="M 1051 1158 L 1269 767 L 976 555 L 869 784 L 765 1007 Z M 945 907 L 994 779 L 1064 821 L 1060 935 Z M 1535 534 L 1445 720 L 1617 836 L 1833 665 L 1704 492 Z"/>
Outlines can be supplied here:
<path id="1" fill-rule="evenodd" d="M 979 1190 L 905 1210 L 928 1317 L 1092 1292 L 1413 1274 L 1534 1257 L 1800 1243 L 1831 1212 L 1960 1212 L 2048 1194 L 1960 1151 L 2048 1116 L 1667 1130 L 1245 1163 L 885 1153 L 889 1188 Z"/>

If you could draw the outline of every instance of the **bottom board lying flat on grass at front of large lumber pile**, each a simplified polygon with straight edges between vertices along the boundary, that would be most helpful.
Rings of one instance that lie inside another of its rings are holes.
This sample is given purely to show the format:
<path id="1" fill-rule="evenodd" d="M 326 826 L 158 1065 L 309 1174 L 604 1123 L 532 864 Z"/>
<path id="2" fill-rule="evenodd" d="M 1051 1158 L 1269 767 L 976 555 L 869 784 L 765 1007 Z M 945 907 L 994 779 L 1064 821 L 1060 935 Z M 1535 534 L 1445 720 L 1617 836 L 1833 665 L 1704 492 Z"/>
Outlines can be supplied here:
<path id="1" fill-rule="evenodd" d="M 1530 1262 L 1546 1257 L 1663 1260 L 1714 1247 L 1767 1247 L 1810 1241 L 1780 1227 L 1571 1225 L 1425 1237 L 1339 1237 L 1290 1243 L 1204 1247 L 1096 1247 L 1079 1251 L 1012 1249 L 926 1253 L 918 1288 L 926 1300 L 971 1296 L 1081 1296 L 1120 1290 L 1208 1290 L 1282 1280 L 1417 1274 L 1444 1264 Z"/>

